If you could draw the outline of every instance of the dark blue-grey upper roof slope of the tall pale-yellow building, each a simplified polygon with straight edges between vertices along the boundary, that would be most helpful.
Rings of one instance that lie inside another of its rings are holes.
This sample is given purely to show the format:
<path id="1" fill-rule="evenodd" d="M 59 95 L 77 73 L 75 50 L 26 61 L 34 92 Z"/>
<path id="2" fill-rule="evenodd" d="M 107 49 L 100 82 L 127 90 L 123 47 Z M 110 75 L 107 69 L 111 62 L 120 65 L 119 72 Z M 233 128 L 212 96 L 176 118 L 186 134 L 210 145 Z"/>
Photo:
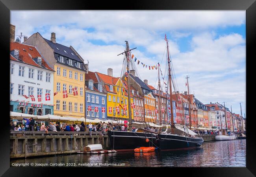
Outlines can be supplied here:
<path id="1" fill-rule="evenodd" d="M 71 48 L 69 48 L 69 47 L 67 47 L 67 46 L 64 46 L 64 45 L 62 45 L 62 44 L 59 44 L 59 43 L 54 43 L 54 42 L 52 42 L 52 41 L 50 41 L 50 40 L 48 40 L 48 39 L 45 39 L 45 38 L 43 38 L 44 40 L 45 40 L 45 42 L 47 42 L 47 44 L 49 44 L 49 46 L 54 50 L 54 53 L 58 53 L 59 55 L 63 55 L 63 56 L 65 56 L 65 57 L 68 57 L 68 58 L 70 58 L 70 59 L 73 59 L 73 60 L 75 60 L 75 61 L 80 61 L 80 62 L 82 62 L 83 63 L 83 61 L 81 61 L 80 60 L 80 58 L 76 55 L 76 53 L 74 52 L 74 51 L 72 51 L 71 50 Z M 59 50 L 58 50 L 58 49 Z M 64 52 L 64 50 L 67 52 Z M 72 53 L 74 54 L 74 55 L 72 55 Z"/>

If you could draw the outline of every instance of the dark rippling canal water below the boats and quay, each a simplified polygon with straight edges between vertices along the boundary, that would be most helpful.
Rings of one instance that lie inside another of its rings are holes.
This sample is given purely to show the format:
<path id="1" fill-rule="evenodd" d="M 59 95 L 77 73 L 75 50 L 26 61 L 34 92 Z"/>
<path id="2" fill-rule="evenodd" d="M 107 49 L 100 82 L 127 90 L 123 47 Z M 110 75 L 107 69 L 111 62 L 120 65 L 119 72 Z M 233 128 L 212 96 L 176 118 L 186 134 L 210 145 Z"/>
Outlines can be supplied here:
<path id="1" fill-rule="evenodd" d="M 60 163 L 66 167 L 245 167 L 246 140 L 204 142 L 201 147 L 193 150 L 150 153 L 117 152 L 99 155 L 72 154 L 17 159 L 11 160 L 10 166 L 25 162 L 37 167 L 56 167 Z"/>

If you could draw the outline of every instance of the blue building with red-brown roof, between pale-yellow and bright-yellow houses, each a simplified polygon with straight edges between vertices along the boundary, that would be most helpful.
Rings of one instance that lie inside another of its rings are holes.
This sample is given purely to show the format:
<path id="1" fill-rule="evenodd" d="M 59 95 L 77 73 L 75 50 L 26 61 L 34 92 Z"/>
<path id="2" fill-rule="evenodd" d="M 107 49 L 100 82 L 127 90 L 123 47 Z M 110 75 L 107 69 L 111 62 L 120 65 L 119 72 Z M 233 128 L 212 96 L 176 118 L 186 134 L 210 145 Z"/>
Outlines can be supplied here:
<path id="1" fill-rule="evenodd" d="M 87 119 L 107 118 L 107 92 L 104 83 L 97 79 L 95 72 L 85 74 L 85 110 Z"/>

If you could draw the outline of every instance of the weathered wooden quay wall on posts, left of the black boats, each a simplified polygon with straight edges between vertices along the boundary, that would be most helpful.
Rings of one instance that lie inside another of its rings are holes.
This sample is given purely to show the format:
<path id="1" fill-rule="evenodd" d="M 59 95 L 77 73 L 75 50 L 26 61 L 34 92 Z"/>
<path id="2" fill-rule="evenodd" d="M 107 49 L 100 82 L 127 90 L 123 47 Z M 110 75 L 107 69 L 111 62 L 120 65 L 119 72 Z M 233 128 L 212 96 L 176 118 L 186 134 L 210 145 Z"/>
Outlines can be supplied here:
<path id="1" fill-rule="evenodd" d="M 88 144 L 102 144 L 103 149 L 109 149 L 108 134 L 48 131 L 46 135 L 45 131 L 10 131 L 10 158 L 76 153 Z"/>

